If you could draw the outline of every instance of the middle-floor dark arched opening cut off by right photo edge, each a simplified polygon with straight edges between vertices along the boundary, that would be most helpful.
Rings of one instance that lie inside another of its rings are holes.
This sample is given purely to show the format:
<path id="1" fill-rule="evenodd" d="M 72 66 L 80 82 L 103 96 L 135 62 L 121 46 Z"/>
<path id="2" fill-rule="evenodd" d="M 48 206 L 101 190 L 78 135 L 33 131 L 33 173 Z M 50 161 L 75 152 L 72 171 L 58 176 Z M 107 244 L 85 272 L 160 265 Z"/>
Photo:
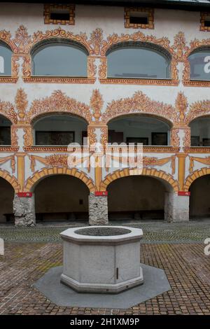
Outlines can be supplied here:
<path id="1" fill-rule="evenodd" d="M 210 146 L 210 118 L 197 118 L 190 123 L 191 146 Z"/>

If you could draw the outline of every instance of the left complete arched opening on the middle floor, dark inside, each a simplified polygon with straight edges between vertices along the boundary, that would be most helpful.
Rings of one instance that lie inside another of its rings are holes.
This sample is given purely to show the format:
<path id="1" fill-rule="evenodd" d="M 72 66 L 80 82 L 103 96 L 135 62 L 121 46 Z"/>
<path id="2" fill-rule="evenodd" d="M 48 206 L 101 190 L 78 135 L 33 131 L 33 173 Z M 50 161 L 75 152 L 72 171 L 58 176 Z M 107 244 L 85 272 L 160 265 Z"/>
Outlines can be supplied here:
<path id="1" fill-rule="evenodd" d="M 68 146 L 83 145 L 87 137 L 87 122 L 83 118 L 53 114 L 38 118 L 34 123 L 34 145 Z"/>

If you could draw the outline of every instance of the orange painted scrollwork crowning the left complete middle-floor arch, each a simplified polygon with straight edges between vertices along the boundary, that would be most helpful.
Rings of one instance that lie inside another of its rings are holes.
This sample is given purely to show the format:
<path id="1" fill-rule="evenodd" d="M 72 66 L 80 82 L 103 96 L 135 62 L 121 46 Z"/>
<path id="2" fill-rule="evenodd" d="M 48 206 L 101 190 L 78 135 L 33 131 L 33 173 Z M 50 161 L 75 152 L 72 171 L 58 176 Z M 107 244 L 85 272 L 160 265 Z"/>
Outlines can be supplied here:
<path id="1" fill-rule="evenodd" d="M 55 90 L 50 97 L 43 99 L 35 99 L 29 112 L 26 115 L 26 123 L 31 123 L 36 116 L 44 113 L 52 112 L 66 112 L 76 114 L 87 120 L 88 123 L 92 121 L 89 106 L 84 103 L 77 102 L 76 99 L 66 96 L 61 90 Z"/>

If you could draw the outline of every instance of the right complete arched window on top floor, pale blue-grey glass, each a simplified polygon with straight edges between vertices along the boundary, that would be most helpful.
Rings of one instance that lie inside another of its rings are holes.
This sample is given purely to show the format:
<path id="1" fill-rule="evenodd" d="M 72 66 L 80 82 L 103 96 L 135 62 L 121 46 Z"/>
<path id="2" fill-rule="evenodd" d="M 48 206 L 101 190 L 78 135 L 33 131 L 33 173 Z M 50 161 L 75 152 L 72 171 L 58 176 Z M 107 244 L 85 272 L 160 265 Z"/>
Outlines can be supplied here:
<path id="1" fill-rule="evenodd" d="M 107 54 L 109 78 L 170 78 L 170 55 L 152 45 L 122 43 Z"/>

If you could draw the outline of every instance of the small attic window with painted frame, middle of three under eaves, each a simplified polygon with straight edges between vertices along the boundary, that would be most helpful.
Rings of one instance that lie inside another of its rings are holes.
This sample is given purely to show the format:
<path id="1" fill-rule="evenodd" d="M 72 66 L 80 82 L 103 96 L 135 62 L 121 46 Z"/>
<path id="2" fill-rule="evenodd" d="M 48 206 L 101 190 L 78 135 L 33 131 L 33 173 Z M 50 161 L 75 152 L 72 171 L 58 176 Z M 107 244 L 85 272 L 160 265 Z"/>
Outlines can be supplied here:
<path id="1" fill-rule="evenodd" d="M 125 27 L 154 29 L 154 10 L 151 8 L 125 8 Z"/>

